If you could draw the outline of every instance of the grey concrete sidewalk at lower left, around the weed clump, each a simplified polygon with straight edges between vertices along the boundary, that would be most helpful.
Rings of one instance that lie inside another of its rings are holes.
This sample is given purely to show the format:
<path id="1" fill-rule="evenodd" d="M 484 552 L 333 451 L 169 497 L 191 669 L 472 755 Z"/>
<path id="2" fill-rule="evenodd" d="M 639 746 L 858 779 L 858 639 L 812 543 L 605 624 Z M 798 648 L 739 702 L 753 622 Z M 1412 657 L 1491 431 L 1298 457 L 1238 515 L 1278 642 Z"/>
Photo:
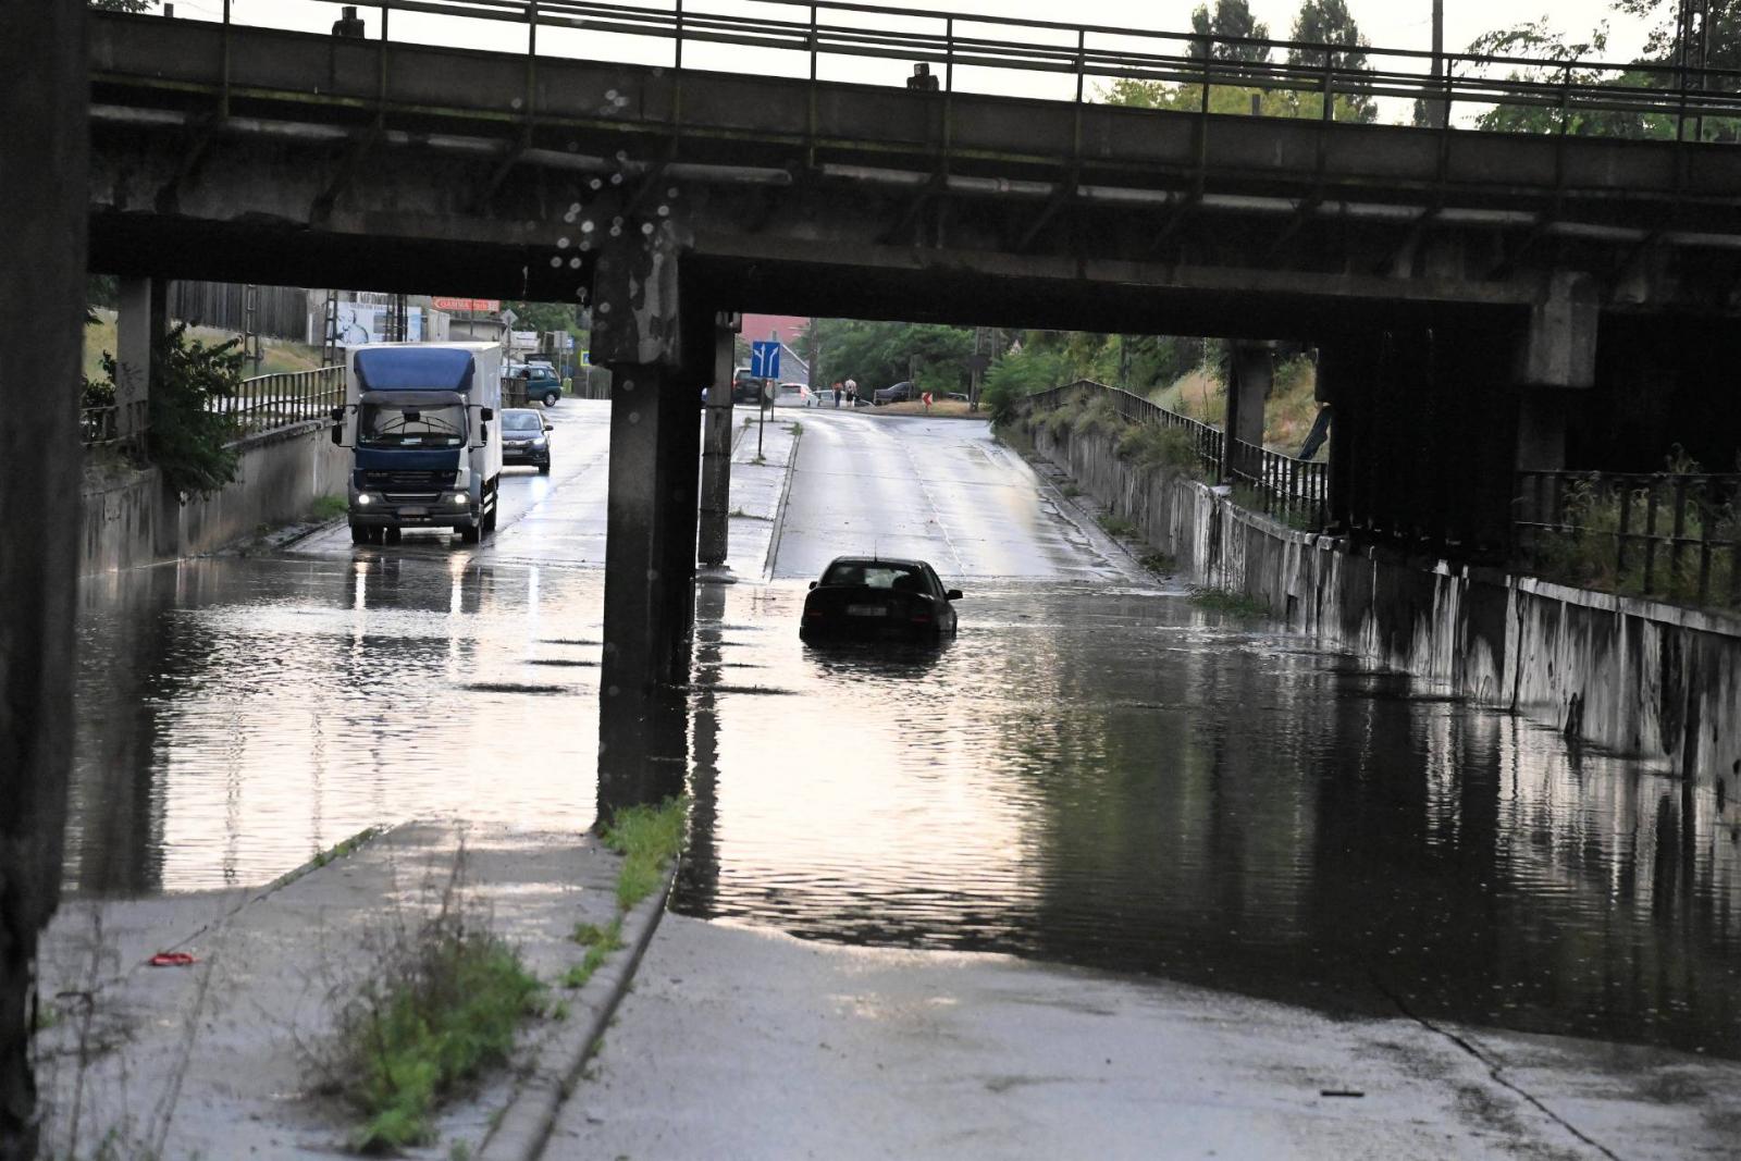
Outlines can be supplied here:
<path id="1" fill-rule="evenodd" d="M 49 1156 L 96 1156 L 108 1135 L 124 1158 L 343 1151 L 357 1117 L 315 1095 L 308 1050 L 374 963 L 369 949 L 439 903 L 461 842 L 470 903 L 552 983 L 547 1017 L 522 1025 L 512 1067 L 461 1093 L 440 1114 L 440 1140 L 413 1156 L 447 1158 L 456 1142 L 475 1151 L 515 1077 L 597 1003 L 590 983 L 554 983 L 585 954 L 569 940 L 575 924 L 616 916 L 622 860 L 592 836 L 406 823 L 275 888 L 70 902 L 42 954 L 42 996 L 57 1013 L 38 1034 L 42 1095 L 59 1111 Z M 195 963 L 146 966 L 157 952 Z M 566 1018 L 557 1004 L 571 1008 Z M 66 1140 L 75 1093 L 77 1154 Z"/>

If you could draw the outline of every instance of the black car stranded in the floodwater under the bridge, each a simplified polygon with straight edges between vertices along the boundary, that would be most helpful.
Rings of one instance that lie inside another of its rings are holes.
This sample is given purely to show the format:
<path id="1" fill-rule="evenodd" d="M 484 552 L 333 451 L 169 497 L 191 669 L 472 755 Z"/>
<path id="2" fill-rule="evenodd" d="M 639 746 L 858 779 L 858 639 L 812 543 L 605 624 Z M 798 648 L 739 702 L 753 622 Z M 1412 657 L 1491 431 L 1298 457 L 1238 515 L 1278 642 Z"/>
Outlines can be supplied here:
<path id="1" fill-rule="evenodd" d="M 804 641 L 937 641 L 956 632 L 952 601 L 959 588 L 944 588 L 924 560 L 836 557 L 810 585 Z"/>

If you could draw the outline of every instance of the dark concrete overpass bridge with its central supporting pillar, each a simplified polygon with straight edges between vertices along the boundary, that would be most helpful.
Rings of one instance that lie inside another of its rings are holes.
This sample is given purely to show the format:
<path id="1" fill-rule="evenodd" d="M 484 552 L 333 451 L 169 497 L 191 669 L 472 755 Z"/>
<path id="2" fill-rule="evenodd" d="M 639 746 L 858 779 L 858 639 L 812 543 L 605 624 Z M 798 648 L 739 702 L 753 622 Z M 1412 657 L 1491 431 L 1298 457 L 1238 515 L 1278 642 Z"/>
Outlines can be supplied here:
<path id="1" fill-rule="evenodd" d="M 91 266 L 588 303 L 625 688 L 688 621 L 726 312 L 1316 343 L 1337 519 L 1440 550 L 1502 536 L 1515 466 L 1741 444 L 1708 371 L 1741 317 L 1741 150 L 1708 141 L 1736 75 L 782 3 L 92 14 Z M 1229 59 L 1252 47 L 1290 61 Z M 1182 108 L 1093 99 L 1121 78 Z M 1227 92 L 1301 115 L 1210 111 Z M 1351 96 L 1436 127 L 1346 120 Z M 1468 127 L 1496 108 L 1548 132 Z M 1252 440 L 1267 355 L 1240 350 Z"/>

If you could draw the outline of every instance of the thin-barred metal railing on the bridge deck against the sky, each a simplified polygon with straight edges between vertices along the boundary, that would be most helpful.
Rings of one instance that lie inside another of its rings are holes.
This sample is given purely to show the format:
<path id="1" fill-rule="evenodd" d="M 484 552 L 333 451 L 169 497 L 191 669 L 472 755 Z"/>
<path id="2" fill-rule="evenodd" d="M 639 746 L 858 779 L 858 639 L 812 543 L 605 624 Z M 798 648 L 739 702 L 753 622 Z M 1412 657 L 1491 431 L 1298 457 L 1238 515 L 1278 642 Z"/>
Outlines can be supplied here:
<path id="1" fill-rule="evenodd" d="M 334 14 L 336 0 L 305 0 L 305 5 L 279 5 L 275 23 L 289 19 L 294 26 L 326 31 L 324 21 Z M 905 82 L 945 96 L 1022 91 L 1076 103 L 1106 96 L 1092 84 L 1161 82 L 1173 87 L 1168 108 L 1175 110 L 1229 111 L 1226 101 L 1217 104 L 1215 96 L 1217 91 L 1236 89 L 1241 94 L 1281 92 L 1294 97 L 1262 108 L 1266 115 L 1321 120 L 1368 117 L 1348 101 L 1339 106 L 1337 97 L 1398 97 L 1424 103 L 1429 122 L 1445 129 L 1454 127 L 1459 115 L 1475 118 L 1501 110 L 1509 115 L 1480 117 L 1476 124 L 1522 132 L 1581 132 L 1600 120 L 1609 136 L 1741 136 L 1741 70 L 1691 64 L 1435 54 L 1372 45 L 1351 50 L 1348 45 L 823 0 L 759 0 L 757 9 L 764 16 L 733 10 L 731 0 L 644 5 L 592 0 L 360 0 L 360 9 L 364 16 L 353 33 L 381 42 L 383 49 L 397 37 L 404 44 L 524 50 L 528 85 L 519 113 L 526 118 L 536 117 L 536 59 L 575 56 L 674 66 L 679 71 L 700 66 L 810 80 L 869 77 L 872 84 Z M 286 10 L 322 16 L 294 19 Z M 393 14 L 399 14 L 397 19 Z M 219 19 L 226 31 L 232 23 L 244 23 L 228 2 L 221 5 Z M 454 28 L 456 21 L 465 23 L 458 33 L 437 31 Z M 524 30 L 514 30 L 515 24 Z M 660 42 L 669 44 L 660 47 Z M 857 61 L 853 75 L 823 77 L 825 71 L 837 71 L 843 57 Z M 228 52 L 225 59 L 230 59 Z M 895 68 L 897 61 L 937 71 L 930 78 L 904 77 Z M 1027 73 L 1029 78 L 1012 87 L 1010 73 Z M 388 77 L 383 52 L 383 103 Z M 674 118 L 679 106 L 674 106 Z"/>

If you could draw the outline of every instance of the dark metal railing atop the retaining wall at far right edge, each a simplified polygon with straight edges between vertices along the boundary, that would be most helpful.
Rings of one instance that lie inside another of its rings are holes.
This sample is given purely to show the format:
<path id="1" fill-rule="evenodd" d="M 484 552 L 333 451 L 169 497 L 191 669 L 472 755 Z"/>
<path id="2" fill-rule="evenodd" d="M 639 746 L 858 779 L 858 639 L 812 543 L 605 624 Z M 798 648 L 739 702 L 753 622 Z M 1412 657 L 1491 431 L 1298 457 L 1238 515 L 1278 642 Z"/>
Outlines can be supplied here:
<path id="1" fill-rule="evenodd" d="M 1549 580 L 1741 607 L 1741 473 L 1518 472 L 1511 534 Z"/>

